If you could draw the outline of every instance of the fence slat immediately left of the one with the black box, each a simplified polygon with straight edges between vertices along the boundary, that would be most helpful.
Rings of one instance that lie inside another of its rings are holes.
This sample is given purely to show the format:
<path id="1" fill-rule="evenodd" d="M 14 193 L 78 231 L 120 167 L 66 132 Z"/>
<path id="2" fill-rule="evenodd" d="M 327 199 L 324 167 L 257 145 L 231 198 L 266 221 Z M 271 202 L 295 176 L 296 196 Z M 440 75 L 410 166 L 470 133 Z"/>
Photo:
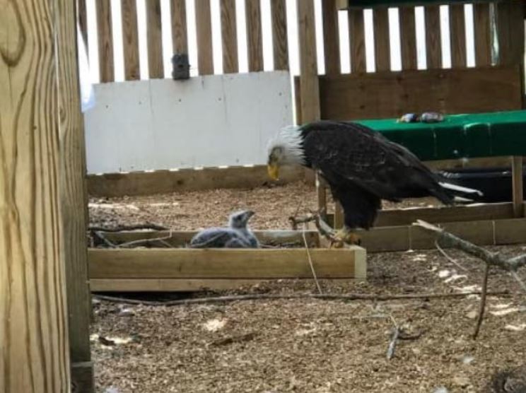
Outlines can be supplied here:
<path id="1" fill-rule="evenodd" d="M 160 0 L 147 0 L 145 3 L 146 37 L 148 40 L 148 74 L 150 78 L 164 78 Z"/>

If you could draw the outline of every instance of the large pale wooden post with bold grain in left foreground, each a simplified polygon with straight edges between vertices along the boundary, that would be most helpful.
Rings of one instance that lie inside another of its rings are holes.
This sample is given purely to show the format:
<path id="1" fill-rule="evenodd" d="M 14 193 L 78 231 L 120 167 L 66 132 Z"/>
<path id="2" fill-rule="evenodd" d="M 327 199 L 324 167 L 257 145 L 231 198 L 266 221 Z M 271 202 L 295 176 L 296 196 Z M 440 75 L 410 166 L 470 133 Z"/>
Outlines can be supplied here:
<path id="1" fill-rule="evenodd" d="M 0 392 L 69 392 L 55 1 L 0 12 Z"/>

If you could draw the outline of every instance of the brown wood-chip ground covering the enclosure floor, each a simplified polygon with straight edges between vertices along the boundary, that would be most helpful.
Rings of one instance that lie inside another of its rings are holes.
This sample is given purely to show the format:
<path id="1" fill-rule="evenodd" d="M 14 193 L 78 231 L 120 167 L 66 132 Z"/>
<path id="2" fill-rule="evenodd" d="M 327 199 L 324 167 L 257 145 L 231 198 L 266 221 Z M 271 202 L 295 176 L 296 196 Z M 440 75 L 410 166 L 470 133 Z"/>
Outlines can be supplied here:
<path id="1" fill-rule="evenodd" d="M 256 211 L 252 228 L 289 228 L 288 216 L 315 208 L 315 192 L 298 183 L 91 199 L 90 222 L 199 229 L 223 225 L 230 211 L 241 208 Z M 515 255 L 526 247 L 498 250 Z M 367 281 L 322 282 L 322 289 L 385 295 L 479 290 L 481 264 L 448 253 L 466 270 L 435 250 L 369 254 Z M 504 289 L 519 290 L 508 274 L 492 269 L 489 291 Z M 312 281 L 283 280 L 228 293 L 315 291 Z M 98 392 L 114 393 L 489 392 L 494 373 L 526 363 L 526 298 L 491 296 L 474 341 L 478 300 L 248 300 L 170 307 L 96 300 L 96 385 Z M 394 323 L 414 339 L 397 341 L 387 360 Z"/>

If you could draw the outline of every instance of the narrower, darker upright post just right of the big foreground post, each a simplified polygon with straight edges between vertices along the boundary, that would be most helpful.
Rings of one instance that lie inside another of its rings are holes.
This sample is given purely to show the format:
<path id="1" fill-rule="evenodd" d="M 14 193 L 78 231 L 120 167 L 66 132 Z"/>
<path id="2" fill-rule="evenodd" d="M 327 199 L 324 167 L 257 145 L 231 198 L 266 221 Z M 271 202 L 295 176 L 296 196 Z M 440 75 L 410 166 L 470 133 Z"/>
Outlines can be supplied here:
<path id="1" fill-rule="evenodd" d="M 59 0 L 57 29 L 59 77 L 59 148 L 62 166 L 60 207 L 68 298 L 71 383 L 74 392 L 95 392 L 90 351 L 91 298 L 88 285 L 88 194 L 86 148 L 81 113 L 74 2 Z M 133 18 L 133 16 L 130 16 Z M 136 27 L 136 25 L 135 25 Z M 133 28 L 133 27 L 132 27 Z M 137 57 L 137 61 L 139 58 Z M 138 71 L 138 70 L 137 70 Z"/>

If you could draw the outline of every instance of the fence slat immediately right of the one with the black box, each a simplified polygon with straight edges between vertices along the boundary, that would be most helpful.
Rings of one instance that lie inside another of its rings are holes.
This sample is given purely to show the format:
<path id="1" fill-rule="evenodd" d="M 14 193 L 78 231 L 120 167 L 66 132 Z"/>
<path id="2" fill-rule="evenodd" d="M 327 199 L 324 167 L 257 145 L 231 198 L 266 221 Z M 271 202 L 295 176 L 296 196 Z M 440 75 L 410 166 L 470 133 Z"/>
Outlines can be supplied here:
<path id="1" fill-rule="evenodd" d="M 195 0 L 195 20 L 199 75 L 211 75 L 214 74 L 214 58 L 212 57 L 210 0 Z"/>

